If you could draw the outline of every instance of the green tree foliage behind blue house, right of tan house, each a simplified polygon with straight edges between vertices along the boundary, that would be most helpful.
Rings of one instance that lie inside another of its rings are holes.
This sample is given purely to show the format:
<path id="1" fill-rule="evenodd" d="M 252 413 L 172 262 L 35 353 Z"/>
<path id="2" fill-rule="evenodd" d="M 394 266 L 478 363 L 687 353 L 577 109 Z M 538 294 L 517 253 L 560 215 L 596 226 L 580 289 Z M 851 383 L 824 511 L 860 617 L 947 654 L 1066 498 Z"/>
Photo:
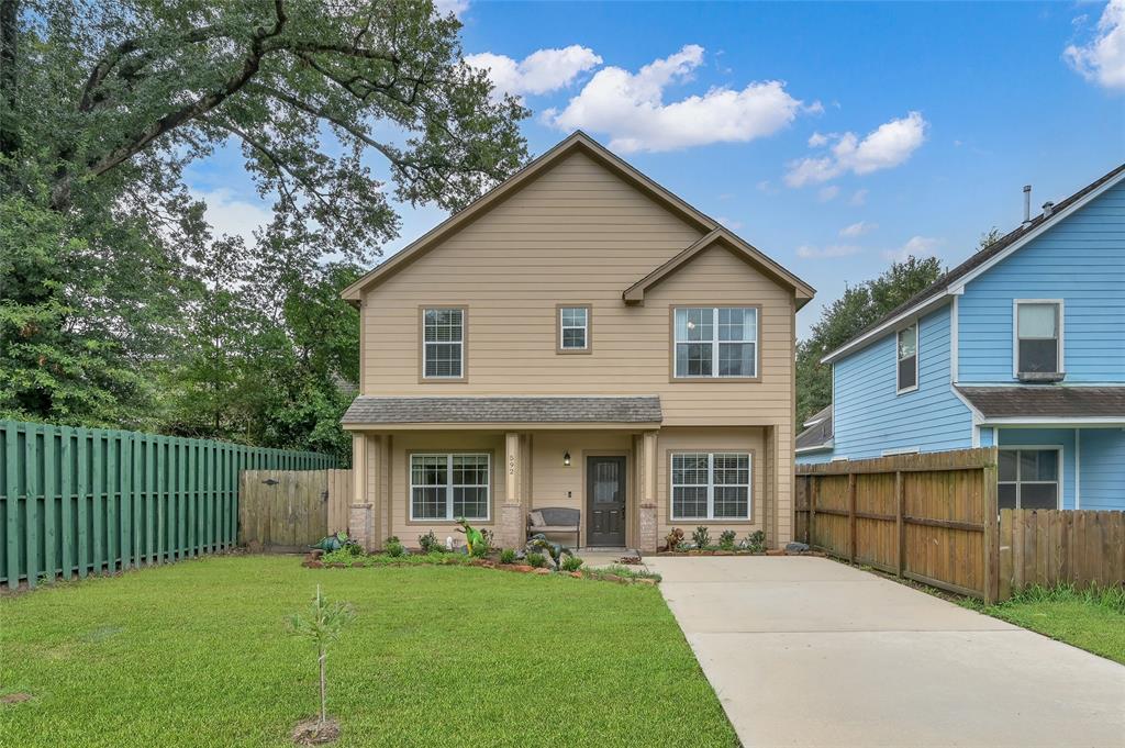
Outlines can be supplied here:
<path id="1" fill-rule="evenodd" d="M 937 258 L 909 256 L 892 262 L 879 278 L 844 291 L 827 305 L 811 335 L 796 344 L 796 422 L 801 424 L 832 399 L 831 368 L 820 363 L 863 328 L 874 324 L 942 274 Z"/>

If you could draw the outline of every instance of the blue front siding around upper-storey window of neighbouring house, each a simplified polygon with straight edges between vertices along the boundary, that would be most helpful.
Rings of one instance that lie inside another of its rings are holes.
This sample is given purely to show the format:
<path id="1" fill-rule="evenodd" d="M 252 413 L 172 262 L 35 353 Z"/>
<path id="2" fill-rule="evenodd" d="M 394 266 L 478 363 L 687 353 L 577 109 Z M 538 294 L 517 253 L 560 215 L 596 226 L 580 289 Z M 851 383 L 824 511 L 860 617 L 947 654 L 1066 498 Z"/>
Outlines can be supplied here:
<path id="1" fill-rule="evenodd" d="M 960 381 L 1015 381 L 1019 298 L 1063 299 L 1066 382 L 1125 381 L 1125 184 L 969 282 L 958 301 Z"/>

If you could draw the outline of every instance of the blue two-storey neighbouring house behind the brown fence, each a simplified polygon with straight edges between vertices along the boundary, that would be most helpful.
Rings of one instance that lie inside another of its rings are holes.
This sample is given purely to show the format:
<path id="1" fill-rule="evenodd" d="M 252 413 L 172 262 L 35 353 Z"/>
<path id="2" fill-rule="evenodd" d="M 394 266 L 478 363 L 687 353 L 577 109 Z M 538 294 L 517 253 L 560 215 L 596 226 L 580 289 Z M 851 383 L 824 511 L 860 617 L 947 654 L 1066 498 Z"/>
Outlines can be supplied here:
<path id="1" fill-rule="evenodd" d="M 1027 214 L 825 357 L 798 462 L 996 445 L 1001 507 L 1125 510 L 1125 164 Z"/>

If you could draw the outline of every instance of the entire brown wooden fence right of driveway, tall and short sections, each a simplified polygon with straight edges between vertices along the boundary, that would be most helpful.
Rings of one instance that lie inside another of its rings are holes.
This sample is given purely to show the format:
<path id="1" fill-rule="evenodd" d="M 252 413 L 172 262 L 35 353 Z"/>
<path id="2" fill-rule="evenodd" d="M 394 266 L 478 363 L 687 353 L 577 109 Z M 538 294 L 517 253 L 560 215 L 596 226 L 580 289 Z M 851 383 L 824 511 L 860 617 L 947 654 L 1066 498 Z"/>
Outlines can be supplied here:
<path id="1" fill-rule="evenodd" d="M 1125 513 L 998 512 L 996 470 L 996 448 L 799 465 L 795 537 L 986 601 L 1033 584 L 1125 584 Z"/>

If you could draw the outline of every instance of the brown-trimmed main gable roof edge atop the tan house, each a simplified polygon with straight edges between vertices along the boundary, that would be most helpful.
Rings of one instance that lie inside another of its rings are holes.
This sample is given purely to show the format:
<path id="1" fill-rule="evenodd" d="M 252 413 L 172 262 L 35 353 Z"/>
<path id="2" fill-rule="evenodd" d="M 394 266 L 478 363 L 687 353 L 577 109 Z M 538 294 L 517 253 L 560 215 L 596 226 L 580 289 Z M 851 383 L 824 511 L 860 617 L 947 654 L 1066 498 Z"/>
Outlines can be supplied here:
<path id="1" fill-rule="evenodd" d="M 364 290 L 375 286 L 382 280 L 386 280 L 394 273 L 398 272 L 403 268 L 410 265 L 414 260 L 418 259 L 431 249 L 440 244 L 444 238 L 460 231 L 465 226 L 468 226 L 477 218 L 486 215 L 489 210 L 501 205 L 504 200 L 512 197 L 521 189 L 532 183 L 540 175 L 550 171 L 557 163 L 566 159 L 573 153 L 584 153 L 585 155 L 593 159 L 598 164 L 605 166 L 611 172 L 623 179 L 627 183 L 640 190 L 642 193 L 648 196 L 650 199 L 656 201 L 658 205 L 667 208 L 674 215 L 678 216 L 685 220 L 688 225 L 694 226 L 701 232 L 710 233 L 716 229 L 721 228 L 719 223 L 704 215 L 700 210 L 693 208 L 691 205 L 685 202 L 680 197 L 673 195 L 664 187 L 660 187 L 655 181 L 642 174 L 640 171 L 629 165 L 626 161 L 616 156 L 612 151 L 603 146 L 601 143 L 590 137 L 582 130 L 576 130 L 572 135 L 564 138 L 555 147 L 550 148 L 541 156 L 533 159 L 523 169 L 512 174 L 504 182 L 497 184 L 488 192 L 485 192 L 476 201 L 470 204 L 464 210 L 453 214 L 446 220 L 438 224 L 434 228 L 423 234 L 421 237 L 414 242 L 406 245 L 404 249 L 388 258 L 385 262 L 377 265 L 370 272 L 364 274 L 362 278 L 348 286 L 340 296 L 348 301 L 358 305 L 360 298 Z M 742 240 L 735 236 L 731 232 L 722 228 L 724 236 L 729 237 L 728 241 L 731 243 L 738 243 L 747 247 L 745 250 L 747 253 L 753 253 L 755 256 L 755 262 L 759 263 L 763 269 L 768 269 L 771 274 L 777 279 L 783 279 L 785 285 L 792 286 L 794 290 L 799 294 L 798 308 L 802 305 L 800 301 L 800 295 L 807 292 L 811 298 L 813 292 L 812 287 L 804 283 L 799 278 L 790 273 L 788 270 L 782 268 L 780 264 L 767 258 L 765 254 L 754 249 Z M 706 237 L 704 237 L 706 238 Z M 702 240 L 701 240 L 702 241 Z M 694 245 L 693 245 L 694 246 Z M 691 247 L 688 247 L 691 249 Z M 702 247 L 705 249 L 705 247 Z M 685 250 L 686 252 L 686 250 Z M 688 258 L 690 259 L 690 258 Z M 686 261 L 686 260 L 684 260 Z M 666 263 L 667 264 L 667 263 Z M 670 272 L 670 270 L 669 270 Z M 665 273 L 666 274 L 666 273 Z M 654 281 L 655 282 L 655 281 Z M 806 301 L 808 299 L 804 299 Z"/>

